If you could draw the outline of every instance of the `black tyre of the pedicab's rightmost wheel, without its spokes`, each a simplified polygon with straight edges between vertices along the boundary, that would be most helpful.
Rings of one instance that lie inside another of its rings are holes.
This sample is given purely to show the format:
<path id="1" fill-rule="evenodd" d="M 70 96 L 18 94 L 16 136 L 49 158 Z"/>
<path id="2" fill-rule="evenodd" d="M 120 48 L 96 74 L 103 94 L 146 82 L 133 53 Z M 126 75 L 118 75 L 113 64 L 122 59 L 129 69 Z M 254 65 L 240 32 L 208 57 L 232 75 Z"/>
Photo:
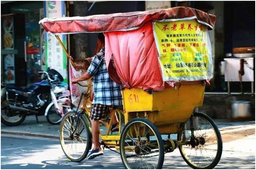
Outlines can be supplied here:
<path id="1" fill-rule="evenodd" d="M 184 161 L 191 167 L 191 168 L 194 168 L 194 169 L 212 169 L 214 168 L 218 163 L 219 163 L 219 160 L 221 159 L 221 154 L 222 154 L 222 138 L 221 138 L 221 133 L 219 132 L 219 128 L 217 127 L 217 125 L 214 123 L 213 119 L 211 119 L 211 117 L 209 117 L 208 115 L 204 114 L 204 113 L 200 113 L 200 112 L 194 112 L 194 117 L 203 117 L 204 119 L 206 119 L 210 124 L 211 126 L 213 127 L 213 129 L 215 130 L 216 132 L 216 136 L 217 136 L 217 140 L 219 141 L 218 142 L 218 150 L 217 150 L 217 154 L 216 154 L 216 157 L 215 159 L 213 160 L 213 162 L 211 164 L 209 164 L 208 166 L 204 167 L 204 168 L 201 168 L 201 167 L 197 167 L 197 166 L 194 166 L 192 165 L 187 159 L 186 157 L 184 156 L 184 154 L 182 153 L 182 149 L 180 146 L 178 146 L 178 149 L 180 150 L 180 154 L 182 156 L 182 158 L 184 159 Z M 178 140 L 181 140 L 182 138 L 182 132 L 178 133 L 178 136 L 177 136 Z"/>

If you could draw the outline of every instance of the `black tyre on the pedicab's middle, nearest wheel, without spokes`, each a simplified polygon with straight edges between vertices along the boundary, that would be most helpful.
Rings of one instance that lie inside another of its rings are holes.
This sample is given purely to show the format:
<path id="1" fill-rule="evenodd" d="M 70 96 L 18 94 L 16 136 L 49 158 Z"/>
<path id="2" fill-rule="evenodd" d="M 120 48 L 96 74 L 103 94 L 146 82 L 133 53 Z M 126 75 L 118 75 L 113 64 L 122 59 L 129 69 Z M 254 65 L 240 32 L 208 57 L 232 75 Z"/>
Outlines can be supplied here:
<path id="1" fill-rule="evenodd" d="M 125 138 L 125 130 L 134 122 L 143 122 L 145 124 L 147 124 L 149 127 L 151 127 L 151 129 L 155 132 L 155 135 L 157 136 L 157 140 L 159 141 L 159 163 L 157 165 L 157 168 L 156 169 L 161 169 L 163 167 L 163 161 L 165 159 L 165 153 L 164 153 L 164 146 L 163 146 L 163 139 L 161 137 L 161 134 L 159 133 L 159 131 L 157 130 L 157 127 L 155 127 L 155 125 L 149 121 L 148 119 L 145 119 L 145 118 L 134 118 L 130 121 L 128 121 L 128 123 L 124 126 L 124 129 L 122 130 L 122 134 L 121 134 L 121 137 L 120 137 L 120 141 L 119 141 L 119 144 L 120 144 L 120 156 L 121 156 L 121 159 L 122 159 L 122 162 L 124 164 L 124 160 L 123 160 L 123 155 L 122 155 L 122 147 L 121 147 L 121 144 L 122 144 L 122 140 L 124 140 Z M 128 169 L 126 167 L 126 165 L 124 164 L 124 167 L 126 169 Z"/>

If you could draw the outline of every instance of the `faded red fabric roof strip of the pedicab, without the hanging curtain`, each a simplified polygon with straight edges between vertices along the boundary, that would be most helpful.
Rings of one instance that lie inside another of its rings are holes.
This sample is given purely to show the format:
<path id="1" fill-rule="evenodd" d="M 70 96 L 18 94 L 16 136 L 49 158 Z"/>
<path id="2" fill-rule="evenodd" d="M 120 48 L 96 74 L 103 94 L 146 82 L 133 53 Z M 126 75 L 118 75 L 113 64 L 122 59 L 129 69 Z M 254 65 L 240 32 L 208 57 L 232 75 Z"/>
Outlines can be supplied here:
<path id="1" fill-rule="evenodd" d="M 216 17 L 194 8 L 175 7 L 154 11 L 136 11 L 92 15 L 86 17 L 44 18 L 39 21 L 47 32 L 73 34 L 78 32 L 110 32 L 136 30 L 148 21 L 170 21 L 171 19 L 197 19 L 199 23 L 213 28 Z"/>

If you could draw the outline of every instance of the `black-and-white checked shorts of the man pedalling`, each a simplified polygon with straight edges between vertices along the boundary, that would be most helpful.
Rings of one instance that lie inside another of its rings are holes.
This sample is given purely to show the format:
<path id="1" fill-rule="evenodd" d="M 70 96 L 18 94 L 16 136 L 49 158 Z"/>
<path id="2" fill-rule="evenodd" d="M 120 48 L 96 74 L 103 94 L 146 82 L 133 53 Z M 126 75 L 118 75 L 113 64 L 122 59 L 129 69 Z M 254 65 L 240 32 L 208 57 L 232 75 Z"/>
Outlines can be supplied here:
<path id="1" fill-rule="evenodd" d="M 109 108 L 110 106 L 107 105 L 93 104 L 90 119 L 93 121 L 106 119 L 110 113 Z"/>

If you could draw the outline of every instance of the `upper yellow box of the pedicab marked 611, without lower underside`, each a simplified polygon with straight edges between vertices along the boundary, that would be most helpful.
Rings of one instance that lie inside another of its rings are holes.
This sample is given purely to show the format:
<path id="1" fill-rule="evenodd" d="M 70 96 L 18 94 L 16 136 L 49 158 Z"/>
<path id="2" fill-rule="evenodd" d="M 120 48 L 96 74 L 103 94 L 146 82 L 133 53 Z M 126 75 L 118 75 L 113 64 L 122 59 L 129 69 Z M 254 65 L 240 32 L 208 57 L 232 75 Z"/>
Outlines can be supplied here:
<path id="1" fill-rule="evenodd" d="M 203 81 L 183 81 L 176 88 L 153 91 L 149 94 L 142 89 L 124 89 L 124 111 L 180 110 L 202 106 L 205 83 Z"/>

